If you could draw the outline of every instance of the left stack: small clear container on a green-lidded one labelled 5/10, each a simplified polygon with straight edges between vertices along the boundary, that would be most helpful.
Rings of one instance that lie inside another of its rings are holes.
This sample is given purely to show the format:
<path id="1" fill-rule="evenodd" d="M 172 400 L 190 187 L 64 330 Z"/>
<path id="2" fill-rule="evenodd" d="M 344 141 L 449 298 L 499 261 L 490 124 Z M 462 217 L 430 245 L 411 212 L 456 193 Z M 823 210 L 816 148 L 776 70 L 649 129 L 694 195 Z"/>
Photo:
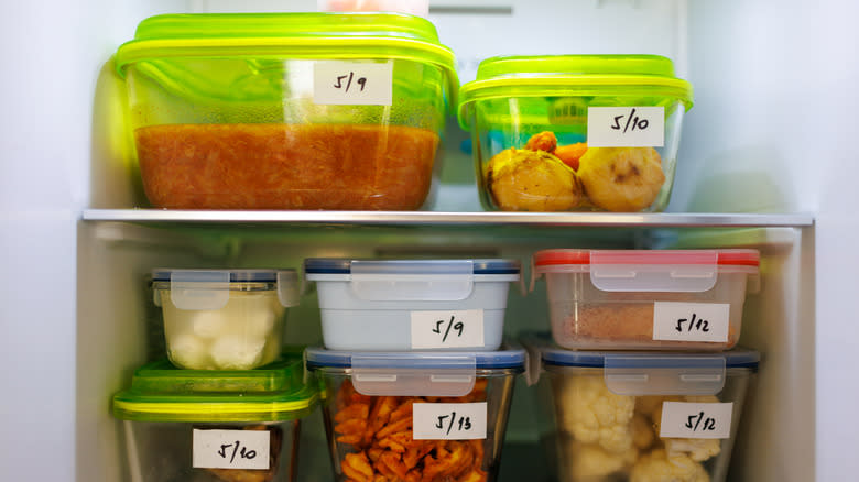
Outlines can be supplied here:
<path id="1" fill-rule="evenodd" d="M 132 481 L 294 481 L 300 420 L 317 403 L 283 351 L 293 270 L 155 270 L 168 360 L 113 397 Z"/>

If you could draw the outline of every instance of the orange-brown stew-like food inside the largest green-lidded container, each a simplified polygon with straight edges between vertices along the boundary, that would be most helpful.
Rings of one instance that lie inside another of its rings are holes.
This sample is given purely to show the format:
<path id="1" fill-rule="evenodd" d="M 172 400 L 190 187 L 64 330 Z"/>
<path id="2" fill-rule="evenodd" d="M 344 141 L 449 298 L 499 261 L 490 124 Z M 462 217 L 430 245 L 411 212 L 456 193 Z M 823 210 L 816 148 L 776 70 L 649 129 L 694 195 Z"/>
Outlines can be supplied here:
<path id="1" fill-rule="evenodd" d="M 414 210 L 438 135 L 403 125 L 165 124 L 134 131 L 143 187 L 173 209 Z"/>

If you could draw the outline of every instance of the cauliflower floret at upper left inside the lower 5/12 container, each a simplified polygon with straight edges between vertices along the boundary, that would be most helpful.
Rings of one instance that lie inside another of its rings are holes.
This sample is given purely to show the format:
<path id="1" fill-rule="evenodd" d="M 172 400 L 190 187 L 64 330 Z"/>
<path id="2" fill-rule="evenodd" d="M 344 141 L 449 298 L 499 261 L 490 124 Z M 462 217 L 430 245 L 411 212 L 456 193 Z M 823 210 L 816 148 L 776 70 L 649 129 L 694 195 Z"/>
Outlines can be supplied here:
<path id="1" fill-rule="evenodd" d="M 565 377 L 558 388 L 558 421 L 576 440 L 613 453 L 632 447 L 635 397 L 611 393 L 602 376 Z"/>

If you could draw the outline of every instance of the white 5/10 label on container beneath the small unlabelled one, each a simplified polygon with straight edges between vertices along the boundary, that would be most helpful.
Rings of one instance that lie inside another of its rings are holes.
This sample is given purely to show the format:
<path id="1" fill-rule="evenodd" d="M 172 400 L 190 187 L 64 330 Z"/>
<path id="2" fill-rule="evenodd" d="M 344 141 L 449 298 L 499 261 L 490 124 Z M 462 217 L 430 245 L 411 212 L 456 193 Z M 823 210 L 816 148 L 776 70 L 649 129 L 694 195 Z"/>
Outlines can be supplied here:
<path id="1" fill-rule="evenodd" d="M 269 469 L 269 430 L 194 429 L 192 462 L 198 469 Z"/>

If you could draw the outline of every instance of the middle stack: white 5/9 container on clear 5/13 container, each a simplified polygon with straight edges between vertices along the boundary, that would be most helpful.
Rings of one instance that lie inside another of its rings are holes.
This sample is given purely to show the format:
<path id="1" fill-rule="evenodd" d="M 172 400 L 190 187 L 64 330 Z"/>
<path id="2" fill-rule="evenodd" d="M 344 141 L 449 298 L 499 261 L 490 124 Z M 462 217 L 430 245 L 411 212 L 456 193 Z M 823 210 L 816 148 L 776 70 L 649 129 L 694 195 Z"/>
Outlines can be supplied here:
<path id="1" fill-rule="evenodd" d="M 523 350 L 502 347 L 507 260 L 308 259 L 338 481 L 497 480 Z M 500 350 L 499 350 L 500 348 Z"/>

